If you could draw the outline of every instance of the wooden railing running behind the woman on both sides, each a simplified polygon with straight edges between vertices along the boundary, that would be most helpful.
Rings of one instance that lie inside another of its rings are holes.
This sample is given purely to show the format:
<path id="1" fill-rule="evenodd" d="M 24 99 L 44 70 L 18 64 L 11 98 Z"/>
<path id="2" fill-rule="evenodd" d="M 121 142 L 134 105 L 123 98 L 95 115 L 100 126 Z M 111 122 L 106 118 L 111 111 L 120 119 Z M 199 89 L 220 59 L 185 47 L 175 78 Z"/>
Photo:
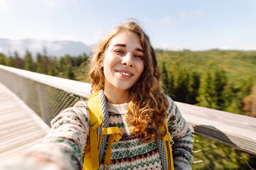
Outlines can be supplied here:
<path id="1" fill-rule="evenodd" d="M 84 98 L 90 96 L 90 84 L 0 65 L 1 83 L 16 94 L 20 93 L 16 89 L 18 79 L 28 79 Z M 256 154 L 256 118 L 186 103 L 176 104 L 193 133 Z"/>

